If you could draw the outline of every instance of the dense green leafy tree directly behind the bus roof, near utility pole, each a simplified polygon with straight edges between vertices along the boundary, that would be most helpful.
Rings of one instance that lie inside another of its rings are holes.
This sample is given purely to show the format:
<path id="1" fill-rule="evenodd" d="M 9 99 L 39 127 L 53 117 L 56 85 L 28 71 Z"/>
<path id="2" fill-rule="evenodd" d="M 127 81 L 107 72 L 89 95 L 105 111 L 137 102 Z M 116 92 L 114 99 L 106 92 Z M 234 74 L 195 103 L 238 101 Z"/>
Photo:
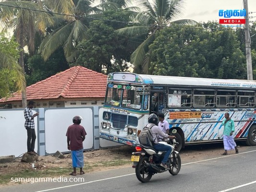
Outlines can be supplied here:
<path id="1" fill-rule="evenodd" d="M 166 28 L 150 45 L 151 72 L 157 75 L 245 79 L 246 61 L 235 32 L 193 27 Z"/>

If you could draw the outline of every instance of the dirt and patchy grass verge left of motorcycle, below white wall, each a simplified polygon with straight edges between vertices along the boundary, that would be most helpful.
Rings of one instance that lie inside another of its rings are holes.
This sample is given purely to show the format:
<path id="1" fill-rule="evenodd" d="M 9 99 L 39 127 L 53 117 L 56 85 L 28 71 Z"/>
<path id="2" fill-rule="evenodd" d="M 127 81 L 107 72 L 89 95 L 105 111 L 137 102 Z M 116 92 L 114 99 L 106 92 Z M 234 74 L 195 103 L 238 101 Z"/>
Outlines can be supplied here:
<path id="1" fill-rule="evenodd" d="M 110 168 L 120 168 L 131 166 L 131 154 L 134 148 L 122 146 L 110 149 L 100 149 L 84 152 L 84 171 L 103 171 Z M 54 156 L 39 156 L 38 161 L 32 168 L 32 163 L 21 162 L 21 158 L 15 159 L 11 163 L 0 164 L 0 177 L 5 181 L 0 184 L 7 184 L 12 177 L 51 177 L 65 176 L 73 171 L 71 154 L 65 154 L 65 158 Z M 77 170 L 79 171 L 79 170 Z"/>

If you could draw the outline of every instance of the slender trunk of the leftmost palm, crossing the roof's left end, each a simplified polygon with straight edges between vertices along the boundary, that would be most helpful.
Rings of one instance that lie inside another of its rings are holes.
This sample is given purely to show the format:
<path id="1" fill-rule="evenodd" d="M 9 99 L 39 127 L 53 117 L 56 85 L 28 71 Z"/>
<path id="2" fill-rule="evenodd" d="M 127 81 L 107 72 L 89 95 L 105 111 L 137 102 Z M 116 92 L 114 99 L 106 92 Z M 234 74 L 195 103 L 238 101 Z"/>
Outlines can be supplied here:
<path id="1" fill-rule="evenodd" d="M 19 63 L 22 68 L 23 74 L 25 75 L 25 68 L 24 68 L 24 23 L 23 20 L 20 20 L 20 38 L 19 38 L 19 44 L 20 44 L 20 59 Z M 26 99 L 26 88 L 22 91 L 22 107 L 25 108 L 27 105 L 27 99 Z"/>

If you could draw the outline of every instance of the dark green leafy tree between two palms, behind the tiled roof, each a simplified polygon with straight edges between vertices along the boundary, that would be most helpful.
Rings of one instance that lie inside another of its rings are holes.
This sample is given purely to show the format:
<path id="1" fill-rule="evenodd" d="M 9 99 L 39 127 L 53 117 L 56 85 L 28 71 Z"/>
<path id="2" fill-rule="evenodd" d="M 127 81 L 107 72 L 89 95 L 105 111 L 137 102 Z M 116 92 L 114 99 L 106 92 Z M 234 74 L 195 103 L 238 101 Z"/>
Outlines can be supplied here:
<path id="1" fill-rule="evenodd" d="M 110 10 L 103 13 L 103 18 L 118 21 L 129 21 L 129 14 L 122 10 Z M 88 38 L 76 47 L 80 52 L 75 63 L 97 72 L 127 71 L 132 49 L 126 48 L 127 43 L 115 29 L 123 27 L 123 23 L 94 20 L 87 30 Z"/>

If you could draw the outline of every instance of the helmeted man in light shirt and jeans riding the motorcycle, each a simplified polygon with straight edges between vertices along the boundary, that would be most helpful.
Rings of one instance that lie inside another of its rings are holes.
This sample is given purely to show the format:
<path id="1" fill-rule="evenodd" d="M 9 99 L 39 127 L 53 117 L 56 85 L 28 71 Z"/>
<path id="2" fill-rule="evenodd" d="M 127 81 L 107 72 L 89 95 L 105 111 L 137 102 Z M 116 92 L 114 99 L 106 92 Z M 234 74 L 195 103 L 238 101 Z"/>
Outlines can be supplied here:
<path id="1" fill-rule="evenodd" d="M 157 151 L 166 151 L 160 166 L 163 167 L 163 168 L 170 169 L 168 167 L 168 165 L 166 165 L 166 162 L 167 162 L 167 160 L 168 160 L 168 158 L 171 154 L 171 151 L 173 149 L 170 145 L 159 144 L 158 143 L 158 135 L 165 138 L 165 139 L 167 139 L 167 138 L 174 139 L 175 136 L 171 136 L 171 135 L 168 135 L 168 134 L 162 132 L 162 130 L 158 127 L 158 117 L 157 117 L 156 114 L 149 115 L 148 122 L 149 122 L 149 124 L 147 124 L 146 127 L 150 127 L 152 124 L 155 124 L 151 128 L 152 136 L 153 136 L 153 140 L 154 140 L 154 146 L 153 146 L 154 149 L 156 149 Z"/>

